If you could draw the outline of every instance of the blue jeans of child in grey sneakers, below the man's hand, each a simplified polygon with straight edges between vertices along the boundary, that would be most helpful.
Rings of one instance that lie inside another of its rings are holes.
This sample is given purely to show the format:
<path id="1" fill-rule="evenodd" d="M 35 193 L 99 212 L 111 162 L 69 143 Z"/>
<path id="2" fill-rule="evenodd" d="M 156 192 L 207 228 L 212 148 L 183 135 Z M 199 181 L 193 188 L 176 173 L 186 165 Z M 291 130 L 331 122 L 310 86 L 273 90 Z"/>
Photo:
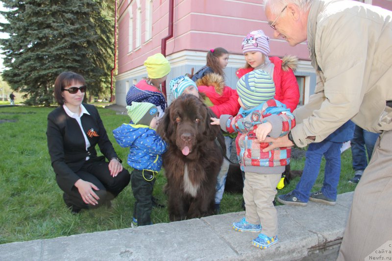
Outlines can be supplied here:
<path id="1" fill-rule="evenodd" d="M 325 157 L 324 182 L 321 192 L 329 199 L 336 200 L 341 170 L 341 147 L 343 142 L 314 142 L 306 151 L 305 166 L 293 195 L 302 202 L 308 202 L 310 192 L 319 175 L 322 156 Z"/>

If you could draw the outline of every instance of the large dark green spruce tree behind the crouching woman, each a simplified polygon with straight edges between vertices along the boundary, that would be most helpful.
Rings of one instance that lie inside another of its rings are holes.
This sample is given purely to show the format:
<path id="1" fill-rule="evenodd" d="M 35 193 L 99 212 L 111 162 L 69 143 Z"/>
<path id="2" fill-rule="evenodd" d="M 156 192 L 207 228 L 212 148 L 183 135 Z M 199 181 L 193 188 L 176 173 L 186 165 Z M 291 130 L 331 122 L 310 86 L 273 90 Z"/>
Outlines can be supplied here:
<path id="1" fill-rule="evenodd" d="M 114 53 L 114 1 L 2 0 L 8 23 L 0 31 L 2 73 L 30 105 L 53 104 L 54 80 L 62 71 L 81 74 L 88 95 L 110 88 Z M 112 3 L 111 3 L 112 2 Z"/>

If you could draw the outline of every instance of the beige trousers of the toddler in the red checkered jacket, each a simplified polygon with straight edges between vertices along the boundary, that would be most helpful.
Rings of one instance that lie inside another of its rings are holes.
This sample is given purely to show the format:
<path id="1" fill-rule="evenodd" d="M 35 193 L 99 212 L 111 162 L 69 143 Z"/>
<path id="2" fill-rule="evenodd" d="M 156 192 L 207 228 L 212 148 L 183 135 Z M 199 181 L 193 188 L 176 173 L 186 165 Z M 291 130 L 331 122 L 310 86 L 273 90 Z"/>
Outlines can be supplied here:
<path id="1" fill-rule="evenodd" d="M 272 201 L 281 176 L 282 173 L 245 172 L 245 219 L 251 224 L 261 224 L 261 233 L 268 237 L 276 236 L 278 230 L 278 217 Z"/>

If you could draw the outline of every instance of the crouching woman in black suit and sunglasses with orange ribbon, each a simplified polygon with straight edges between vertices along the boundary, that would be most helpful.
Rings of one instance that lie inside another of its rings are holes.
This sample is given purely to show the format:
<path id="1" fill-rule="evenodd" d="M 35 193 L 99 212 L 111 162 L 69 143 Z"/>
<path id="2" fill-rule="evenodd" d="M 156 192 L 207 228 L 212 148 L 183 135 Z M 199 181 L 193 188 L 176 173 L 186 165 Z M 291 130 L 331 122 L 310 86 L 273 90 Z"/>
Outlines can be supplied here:
<path id="1" fill-rule="evenodd" d="M 60 106 L 48 115 L 51 165 L 57 184 L 64 191 L 64 202 L 73 213 L 110 205 L 130 180 L 98 110 L 82 104 L 86 89 L 81 75 L 62 72 L 54 83 L 54 97 Z M 97 144 L 103 156 L 97 156 Z"/>

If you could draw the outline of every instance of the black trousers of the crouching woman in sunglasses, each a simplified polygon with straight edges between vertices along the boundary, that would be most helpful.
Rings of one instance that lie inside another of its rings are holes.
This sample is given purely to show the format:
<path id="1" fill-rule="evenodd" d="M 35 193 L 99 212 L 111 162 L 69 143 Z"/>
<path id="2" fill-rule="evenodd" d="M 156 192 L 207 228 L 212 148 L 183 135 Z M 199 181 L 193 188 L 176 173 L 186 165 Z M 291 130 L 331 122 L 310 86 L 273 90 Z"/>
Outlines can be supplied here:
<path id="1" fill-rule="evenodd" d="M 70 193 L 64 192 L 63 195 L 65 204 L 72 207 L 73 210 L 92 209 L 104 205 L 114 199 L 129 184 L 130 180 L 129 172 L 125 168 L 116 177 L 112 177 L 109 171 L 109 163 L 104 160 L 86 161 L 83 167 L 75 173 L 82 180 L 91 182 L 98 187 L 99 190 L 95 192 L 99 200 L 96 206 L 84 203 L 79 190 L 73 186 Z M 59 184 L 59 187 L 61 188 L 61 184 Z"/>

